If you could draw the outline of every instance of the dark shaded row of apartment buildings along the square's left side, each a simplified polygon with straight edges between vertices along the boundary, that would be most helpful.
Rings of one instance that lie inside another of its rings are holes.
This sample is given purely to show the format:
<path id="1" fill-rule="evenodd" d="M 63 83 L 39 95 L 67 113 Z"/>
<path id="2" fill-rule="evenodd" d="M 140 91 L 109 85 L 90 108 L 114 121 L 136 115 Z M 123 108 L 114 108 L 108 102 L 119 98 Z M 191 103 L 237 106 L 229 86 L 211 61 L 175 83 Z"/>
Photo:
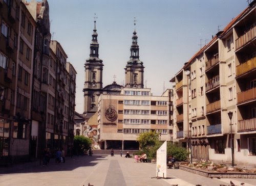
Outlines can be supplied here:
<path id="1" fill-rule="evenodd" d="M 50 48 L 47 1 L 0 1 L 0 25 L 0 164 L 67 149 L 76 71 L 58 42 Z"/>

